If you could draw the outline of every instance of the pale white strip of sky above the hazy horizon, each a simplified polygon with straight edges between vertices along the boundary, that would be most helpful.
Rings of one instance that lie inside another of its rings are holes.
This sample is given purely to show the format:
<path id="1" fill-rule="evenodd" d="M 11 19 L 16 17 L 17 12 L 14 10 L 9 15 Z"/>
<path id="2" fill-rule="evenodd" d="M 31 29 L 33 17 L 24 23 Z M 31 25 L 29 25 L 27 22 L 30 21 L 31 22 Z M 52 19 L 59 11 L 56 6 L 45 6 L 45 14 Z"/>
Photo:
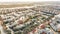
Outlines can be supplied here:
<path id="1" fill-rule="evenodd" d="M 0 2 L 44 2 L 44 1 L 60 1 L 60 0 L 0 0 Z"/>

